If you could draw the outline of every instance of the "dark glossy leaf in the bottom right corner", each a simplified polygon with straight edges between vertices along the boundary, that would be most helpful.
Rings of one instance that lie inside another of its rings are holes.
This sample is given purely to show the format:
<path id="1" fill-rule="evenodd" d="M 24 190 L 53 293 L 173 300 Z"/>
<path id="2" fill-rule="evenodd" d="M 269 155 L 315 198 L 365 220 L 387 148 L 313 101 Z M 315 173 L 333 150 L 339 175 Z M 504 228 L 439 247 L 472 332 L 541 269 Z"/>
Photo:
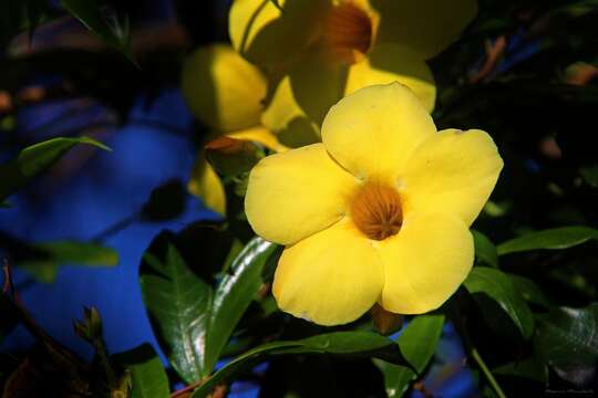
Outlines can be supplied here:
<path id="1" fill-rule="evenodd" d="M 598 304 L 553 308 L 537 316 L 534 347 L 558 376 L 577 385 L 595 377 L 598 364 Z"/>

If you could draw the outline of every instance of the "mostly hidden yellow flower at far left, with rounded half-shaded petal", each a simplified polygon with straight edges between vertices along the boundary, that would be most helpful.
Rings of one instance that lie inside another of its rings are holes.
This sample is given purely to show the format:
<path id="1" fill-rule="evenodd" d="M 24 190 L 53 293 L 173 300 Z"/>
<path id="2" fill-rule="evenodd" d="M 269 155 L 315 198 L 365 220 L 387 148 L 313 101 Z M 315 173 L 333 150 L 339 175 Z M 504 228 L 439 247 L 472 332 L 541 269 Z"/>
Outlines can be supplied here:
<path id="1" fill-rule="evenodd" d="M 230 45 L 212 44 L 193 52 L 185 61 L 181 86 L 189 109 L 213 130 L 212 138 L 227 135 L 271 150 L 286 149 L 260 123 L 266 78 Z M 188 189 L 209 209 L 226 213 L 223 182 L 203 154 L 195 163 Z"/>

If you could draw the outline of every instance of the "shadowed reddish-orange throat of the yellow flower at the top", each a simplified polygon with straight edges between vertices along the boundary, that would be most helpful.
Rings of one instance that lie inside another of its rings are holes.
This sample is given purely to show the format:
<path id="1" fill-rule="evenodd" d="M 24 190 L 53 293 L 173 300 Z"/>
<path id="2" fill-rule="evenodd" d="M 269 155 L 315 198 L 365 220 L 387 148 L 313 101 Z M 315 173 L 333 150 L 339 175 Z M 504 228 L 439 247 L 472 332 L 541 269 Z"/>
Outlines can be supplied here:
<path id="1" fill-rule="evenodd" d="M 370 49 L 372 35 L 372 19 L 353 2 L 343 1 L 330 10 L 323 36 L 334 59 L 360 61 Z"/>

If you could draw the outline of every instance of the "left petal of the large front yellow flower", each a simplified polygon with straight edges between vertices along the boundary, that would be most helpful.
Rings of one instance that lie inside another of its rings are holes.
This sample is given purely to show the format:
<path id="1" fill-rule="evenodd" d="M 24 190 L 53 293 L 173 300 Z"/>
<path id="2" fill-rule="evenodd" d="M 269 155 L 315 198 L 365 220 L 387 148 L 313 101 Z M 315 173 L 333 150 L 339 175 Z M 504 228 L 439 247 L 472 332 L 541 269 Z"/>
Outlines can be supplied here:
<path id="1" fill-rule="evenodd" d="M 245 212 L 257 234 L 292 244 L 340 220 L 355 186 L 322 144 L 308 145 L 268 156 L 254 167 Z"/>

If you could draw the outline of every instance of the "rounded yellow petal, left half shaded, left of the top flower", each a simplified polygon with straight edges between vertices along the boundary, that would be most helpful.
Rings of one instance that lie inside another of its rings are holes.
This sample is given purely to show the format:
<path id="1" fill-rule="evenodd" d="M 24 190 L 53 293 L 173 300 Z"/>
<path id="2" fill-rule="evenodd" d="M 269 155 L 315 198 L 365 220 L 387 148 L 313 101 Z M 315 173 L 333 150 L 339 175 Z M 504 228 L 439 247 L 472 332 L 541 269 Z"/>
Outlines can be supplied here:
<path id="1" fill-rule="evenodd" d="M 182 87 L 194 115 L 214 129 L 226 133 L 260 122 L 266 78 L 229 45 L 192 53 L 183 66 Z"/>

